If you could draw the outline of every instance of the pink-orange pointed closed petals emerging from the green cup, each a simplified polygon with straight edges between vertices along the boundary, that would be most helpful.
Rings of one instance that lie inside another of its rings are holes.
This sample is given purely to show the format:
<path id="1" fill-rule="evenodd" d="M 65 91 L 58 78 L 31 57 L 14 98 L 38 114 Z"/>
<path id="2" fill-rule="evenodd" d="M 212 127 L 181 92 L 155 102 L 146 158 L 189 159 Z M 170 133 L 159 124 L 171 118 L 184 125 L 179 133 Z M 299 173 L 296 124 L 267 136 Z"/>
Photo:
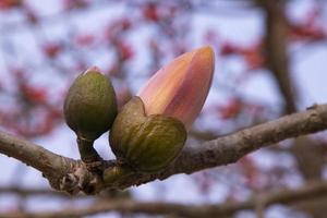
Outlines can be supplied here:
<path id="1" fill-rule="evenodd" d="M 202 47 L 161 68 L 141 89 L 145 112 L 171 116 L 189 129 L 203 108 L 215 69 L 215 53 Z"/>

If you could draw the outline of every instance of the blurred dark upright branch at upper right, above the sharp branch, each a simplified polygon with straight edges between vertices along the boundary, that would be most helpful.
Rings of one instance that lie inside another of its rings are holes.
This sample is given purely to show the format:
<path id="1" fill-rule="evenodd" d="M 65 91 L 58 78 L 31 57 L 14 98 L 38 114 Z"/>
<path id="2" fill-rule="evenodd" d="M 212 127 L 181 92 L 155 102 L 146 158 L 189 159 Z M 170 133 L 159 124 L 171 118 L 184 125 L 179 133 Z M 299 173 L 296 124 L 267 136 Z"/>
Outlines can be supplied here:
<path id="1" fill-rule="evenodd" d="M 289 29 L 283 0 L 257 0 L 266 13 L 265 57 L 284 99 L 287 113 L 296 111 L 296 92 L 289 72 Z"/>

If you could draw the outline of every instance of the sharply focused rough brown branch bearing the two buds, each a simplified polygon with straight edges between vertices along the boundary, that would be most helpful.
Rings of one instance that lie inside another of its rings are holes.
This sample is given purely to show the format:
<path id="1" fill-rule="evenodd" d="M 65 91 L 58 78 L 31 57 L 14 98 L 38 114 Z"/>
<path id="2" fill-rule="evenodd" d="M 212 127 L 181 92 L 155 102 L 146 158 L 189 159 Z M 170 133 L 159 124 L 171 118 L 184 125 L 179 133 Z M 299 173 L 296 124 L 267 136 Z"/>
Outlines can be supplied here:
<path id="1" fill-rule="evenodd" d="M 125 189 L 156 179 L 164 180 L 177 173 L 193 173 L 203 169 L 235 162 L 243 156 L 274 143 L 316 133 L 327 129 L 327 105 L 279 118 L 221 136 L 195 146 L 185 146 L 181 155 L 162 172 L 135 172 L 114 184 L 104 184 L 102 174 L 89 171 L 80 160 L 56 155 L 31 142 L 0 132 L 0 153 L 14 157 L 40 170 L 52 187 L 76 194 L 95 194 L 105 187 Z M 113 169 L 116 161 L 102 161 L 101 169 Z"/>

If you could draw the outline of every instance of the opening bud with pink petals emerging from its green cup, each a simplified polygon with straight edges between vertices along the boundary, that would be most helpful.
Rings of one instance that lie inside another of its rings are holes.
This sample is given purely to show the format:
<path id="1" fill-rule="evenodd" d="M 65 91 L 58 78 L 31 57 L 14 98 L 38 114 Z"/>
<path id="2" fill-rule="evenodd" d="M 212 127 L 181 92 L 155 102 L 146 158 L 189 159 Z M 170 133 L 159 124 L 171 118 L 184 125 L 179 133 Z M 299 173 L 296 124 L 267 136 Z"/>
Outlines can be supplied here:
<path id="1" fill-rule="evenodd" d="M 186 52 L 159 70 L 113 122 L 109 140 L 119 162 L 142 172 L 166 168 L 183 148 L 186 128 L 204 105 L 213 73 L 210 47 Z M 109 182 L 126 171 L 116 168 L 105 178 Z"/>

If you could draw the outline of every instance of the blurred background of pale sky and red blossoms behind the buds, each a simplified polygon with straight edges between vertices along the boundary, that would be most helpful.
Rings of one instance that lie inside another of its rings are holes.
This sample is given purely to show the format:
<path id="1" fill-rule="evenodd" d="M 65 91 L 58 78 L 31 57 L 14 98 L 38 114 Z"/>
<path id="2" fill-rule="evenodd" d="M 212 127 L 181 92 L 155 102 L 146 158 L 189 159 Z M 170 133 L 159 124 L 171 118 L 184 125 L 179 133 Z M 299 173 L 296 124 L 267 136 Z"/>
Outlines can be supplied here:
<path id="1" fill-rule="evenodd" d="M 159 68 L 203 45 L 216 52 L 209 97 L 189 142 L 214 140 L 327 102 L 325 0 L 0 0 L 0 130 L 80 158 L 62 118 L 72 81 L 97 65 L 121 107 Z M 108 134 L 96 142 L 113 159 Z M 327 179 L 326 132 L 261 149 L 239 162 L 123 192 L 70 197 L 41 173 L 0 155 L 0 213 L 87 207 L 107 198 L 222 204 Z M 272 204 L 265 217 L 327 214 L 327 196 Z M 191 206 L 190 206 L 191 207 Z M 154 217 L 100 213 L 88 217 Z M 161 216 L 158 216 L 161 217 Z M 162 216 L 168 217 L 168 216 Z M 178 217 L 178 216 L 169 216 Z M 233 217 L 256 217 L 235 210 Z"/>

